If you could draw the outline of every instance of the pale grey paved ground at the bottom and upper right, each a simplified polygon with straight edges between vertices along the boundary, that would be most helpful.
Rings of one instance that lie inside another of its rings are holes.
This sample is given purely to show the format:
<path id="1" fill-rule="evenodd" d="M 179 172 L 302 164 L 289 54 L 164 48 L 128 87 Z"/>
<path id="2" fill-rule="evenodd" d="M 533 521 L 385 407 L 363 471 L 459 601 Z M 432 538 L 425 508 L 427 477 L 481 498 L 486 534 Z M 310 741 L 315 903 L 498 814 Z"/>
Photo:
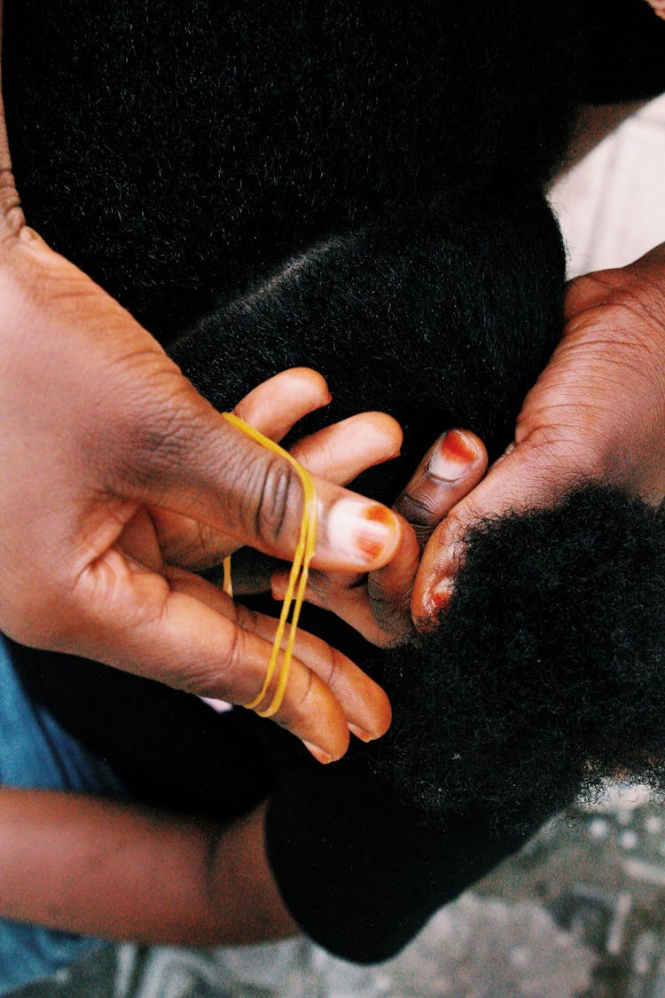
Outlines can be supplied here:
<path id="1" fill-rule="evenodd" d="M 570 273 L 665 241 L 665 97 L 551 192 Z M 214 953 L 121 946 L 21 998 L 665 998 L 665 811 L 613 787 L 573 808 L 432 919 L 358 968 L 306 941 Z"/>

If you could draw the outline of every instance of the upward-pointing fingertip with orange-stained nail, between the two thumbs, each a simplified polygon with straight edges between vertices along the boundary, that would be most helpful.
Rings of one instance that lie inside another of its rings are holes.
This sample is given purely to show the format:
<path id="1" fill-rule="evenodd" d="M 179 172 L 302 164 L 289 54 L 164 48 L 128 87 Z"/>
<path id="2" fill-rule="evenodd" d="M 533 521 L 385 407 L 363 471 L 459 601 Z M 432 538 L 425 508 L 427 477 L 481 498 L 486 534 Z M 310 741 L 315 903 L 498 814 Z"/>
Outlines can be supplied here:
<path id="1" fill-rule="evenodd" d="M 485 445 L 475 433 L 453 429 L 439 437 L 394 506 L 414 528 L 421 547 L 446 514 L 480 482 L 487 467 Z"/>

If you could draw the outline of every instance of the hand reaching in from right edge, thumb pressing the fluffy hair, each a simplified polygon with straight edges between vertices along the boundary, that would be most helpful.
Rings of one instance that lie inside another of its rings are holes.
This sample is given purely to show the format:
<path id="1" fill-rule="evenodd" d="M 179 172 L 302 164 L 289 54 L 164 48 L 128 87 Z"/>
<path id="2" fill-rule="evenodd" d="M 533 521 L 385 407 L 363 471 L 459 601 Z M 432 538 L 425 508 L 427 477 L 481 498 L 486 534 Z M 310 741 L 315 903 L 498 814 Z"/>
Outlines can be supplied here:
<path id="1" fill-rule="evenodd" d="M 566 324 L 526 396 L 514 443 L 430 539 L 412 613 L 435 626 L 464 558 L 464 536 L 485 517 L 554 503 L 584 481 L 651 503 L 665 493 L 665 244 L 621 269 L 568 285 Z"/>

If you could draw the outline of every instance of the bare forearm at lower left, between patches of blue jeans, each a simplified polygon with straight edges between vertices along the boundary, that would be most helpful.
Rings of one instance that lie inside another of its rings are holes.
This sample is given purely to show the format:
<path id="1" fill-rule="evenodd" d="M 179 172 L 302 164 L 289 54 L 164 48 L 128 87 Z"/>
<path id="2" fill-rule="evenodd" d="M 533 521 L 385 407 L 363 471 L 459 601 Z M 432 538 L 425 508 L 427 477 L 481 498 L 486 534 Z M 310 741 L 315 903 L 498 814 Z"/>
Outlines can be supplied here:
<path id="1" fill-rule="evenodd" d="M 108 939 L 249 943 L 298 931 L 262 808 L 224 829 L 115 801 L 0 790 L 0 914 Z"/>

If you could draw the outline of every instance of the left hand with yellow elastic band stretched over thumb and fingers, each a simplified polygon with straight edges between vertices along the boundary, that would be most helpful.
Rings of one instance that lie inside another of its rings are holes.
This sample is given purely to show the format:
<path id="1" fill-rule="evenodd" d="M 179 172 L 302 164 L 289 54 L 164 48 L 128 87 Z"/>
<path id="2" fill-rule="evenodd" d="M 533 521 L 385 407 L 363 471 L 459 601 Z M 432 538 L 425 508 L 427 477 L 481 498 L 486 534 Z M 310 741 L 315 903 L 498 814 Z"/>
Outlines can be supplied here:
<path id="1" fill-rule="evenodd" d="M 180 524 L 192 561 L 192 525 L 288 558 L 299 480 L 25 227 L 11 175 L 0 181 L 0 630 L 246 703 L 261 686 L 273 625 L 171 568 L 166 534 L 173 541 Z M 321 385 L 317 393 L 313 407 L 325 402 Z M 392 514 L 326 482 L 317 493 L 321 567 L 373 569 L 391 558 L 401 534 Z M 333 758 L 348 745 L 349 721 L 385 731 L 384 695 L 347 660 L 305 636 L 296 654 L 280 724 Z"/>

